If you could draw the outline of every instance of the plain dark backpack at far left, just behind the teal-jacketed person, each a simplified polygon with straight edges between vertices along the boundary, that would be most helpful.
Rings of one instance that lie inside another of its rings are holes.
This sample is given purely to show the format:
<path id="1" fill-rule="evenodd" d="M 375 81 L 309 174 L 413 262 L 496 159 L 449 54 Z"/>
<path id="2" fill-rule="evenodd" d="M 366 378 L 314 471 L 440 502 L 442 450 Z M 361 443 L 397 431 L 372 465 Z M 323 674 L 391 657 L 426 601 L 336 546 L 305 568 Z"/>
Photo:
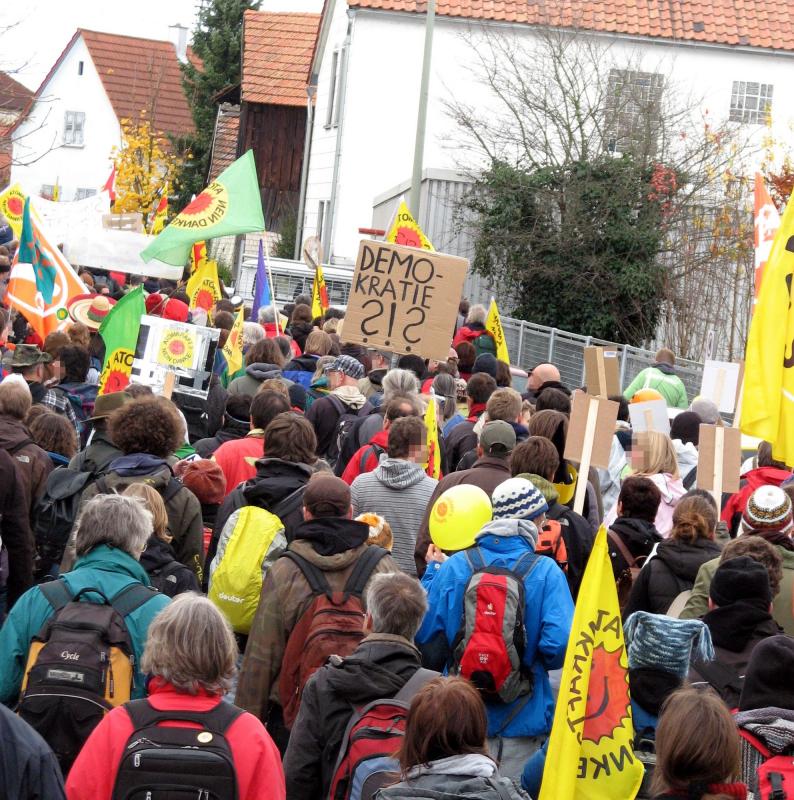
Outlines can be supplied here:
<path id="1" fill-rule="evenodd" d="M 36 547 L 33 570 L 36 581 L 50 575 L 61 563 L 77 519 L 80 498 L 91 475 L 90 472 L 75 472 L 69 467 L 57 467 L 47 476 L 44 493 L 36 501 L 31 516 Z"/>

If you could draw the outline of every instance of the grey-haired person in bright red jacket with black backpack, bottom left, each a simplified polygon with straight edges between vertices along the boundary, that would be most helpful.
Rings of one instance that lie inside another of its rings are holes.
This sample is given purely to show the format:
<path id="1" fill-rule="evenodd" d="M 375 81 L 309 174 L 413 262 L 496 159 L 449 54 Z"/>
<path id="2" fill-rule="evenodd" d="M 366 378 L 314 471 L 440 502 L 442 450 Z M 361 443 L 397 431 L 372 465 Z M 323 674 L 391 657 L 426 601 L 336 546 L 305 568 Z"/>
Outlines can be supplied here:
<path id="1" fill-rule="evenodd" d="M 149 628 L 143 653 L 149 696 L 142 701 L 145 706 L 134 712 L 153 712 L 154 722 L 147 731 L 152 742 L 137 752 L 145 764 L 147 747 L 169 743 L 167 735 L 158 740 L 153 726 L 168 726 L 187 713 L 193 717 L 190 727 L 201 731 L 195 735 L 195 742 L 209 744 L 218 734 L 225 739 L 239 800 L 283 800 L 284 772 L 273 740 L 253 714 L 223 701 L 236 662 L 237 643 L 223 614 L 206 597 L 193 592 L 174 598 Z M 128 707 L 113 709 L 94 729 L 69 773 L 69 800 L 110 800 L 125 751 L 140 748 L 140 736 Z M 138 741 L 132 742 L 132 737 Z M 191 749 L 200 749 L 200 744 L 191 742 Z M 187 763 L 190 759 L 175 760 Z M 179 787 L 185 796 L 192 790 L 191 796 L 204 797 L 203 777 L 200 770 L 192 773 L 175 764 L 173 774 L 161 772 L 158 783 L 162 786 L 167 782 L 172 790 Z M 158 787 L 140 783 L 135 788 L 143 796 L 148 791 L 157 794 L 154 790 Z"/>

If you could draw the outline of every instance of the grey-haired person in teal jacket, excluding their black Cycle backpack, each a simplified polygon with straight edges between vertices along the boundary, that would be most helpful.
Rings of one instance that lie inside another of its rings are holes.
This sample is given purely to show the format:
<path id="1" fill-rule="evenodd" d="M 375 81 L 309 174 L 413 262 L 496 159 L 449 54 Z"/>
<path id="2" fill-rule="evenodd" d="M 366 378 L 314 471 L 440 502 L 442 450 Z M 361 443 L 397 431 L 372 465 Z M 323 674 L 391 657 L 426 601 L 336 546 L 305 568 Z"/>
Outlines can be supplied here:
<path id="1" fill-rule="evenodd" d="M 149 586 L 139 559 L 152 533 L 152 515 L 138 497 L 102 494 L 89 500 L 77 523 L 74 568 L 60 577 L 74 597 L 81 590 L 99 590 L 113 600 L 133 584 Z M 98 599 L 97 595 L 93 595 Z M 83 600 L 92 600 L 90 592 Z M 154 589 L 151 597 L 130 612 L 124 622 L 135 657 L 132 697 L 144 696 L 140 668 L 146 632 L 168 598 Z M 19 696 L 30 644 L 55 613 L 41 589 L 29 589 L 11 608 L 0 630 L 0 702 L 13 707 Z"/>

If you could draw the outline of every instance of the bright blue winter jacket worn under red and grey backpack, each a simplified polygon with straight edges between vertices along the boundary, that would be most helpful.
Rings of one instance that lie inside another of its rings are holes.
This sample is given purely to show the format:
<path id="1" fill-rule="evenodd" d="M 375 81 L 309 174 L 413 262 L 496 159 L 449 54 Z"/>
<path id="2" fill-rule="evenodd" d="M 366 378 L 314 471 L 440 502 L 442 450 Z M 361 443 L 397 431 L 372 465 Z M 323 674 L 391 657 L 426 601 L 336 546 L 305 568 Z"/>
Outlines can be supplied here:
<path id="1" fill-rule="evenodd" d="M 482 529 L 475 546 L 480 548 L 486 565 L 510 569 L 525 553 L 534 552 L 536 536 L 531 522 L 499 519 Z M 573 620 L 573 601 L 565 576 L 554 560 L 538 558 L 540 561 L 524 582 L 524 663 L 532 669 L 535 688 L 529 700 L 520 697 L 510 704 L 486 704 L 489 736 L 539 736 L 551 730 L 554 698 L 547 670 L 562 666 Z M 433 572 L 427 614 L 416 636 L 417 644 L 429 644 L 430 650 L 440 634 L 448 643 L 454 641 L 462 625 L 463 595 L 472 569 L 465 552 L 460 552 Z M 523 707 L 505 725 L 520 704 Z"/>

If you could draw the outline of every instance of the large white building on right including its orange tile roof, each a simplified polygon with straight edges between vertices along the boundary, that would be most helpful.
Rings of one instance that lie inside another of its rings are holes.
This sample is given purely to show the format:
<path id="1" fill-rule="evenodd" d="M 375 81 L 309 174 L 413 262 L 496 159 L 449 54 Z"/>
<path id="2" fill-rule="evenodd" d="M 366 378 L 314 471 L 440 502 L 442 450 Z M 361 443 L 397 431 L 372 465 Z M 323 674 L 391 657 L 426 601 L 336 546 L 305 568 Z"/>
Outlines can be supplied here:
<path id="1" fill-rule="evenodd" d="M 304 236 L 321 236 L 334 264 L 354 262 L 359 229 L 384 227 L 384 209 L 393 208 L 410 180 L 425 34 L 425 14 L 417 12 L 425 7 L 417 0 L 325 4 L 312 68 L 316 104 L 302 224 Z M 471 40 L 496 34 L 531 48 L 547 21 L 542 13 L 562 7 L 563 28 L 608 45 L 618 63 L 623 57 L 627 67 L 663 74 L 666 86 L 702 97 L 715 123 L 730 117 L 758 139 L 771 106 L 776 130 L 790 136 L 794 29 L 785 4 L 441 0 L 424 150 L 429 178 L 454 179 L 454 172 L 477 166 L 461 152 L 460 131 L 445 110 L 455 99 L 478 109 L 493 105 L 489 90 L 473 79 Z M 436 247 L 447 246 L 448 219 L 434 220 L 425 204 L 420 222 Z"/>

